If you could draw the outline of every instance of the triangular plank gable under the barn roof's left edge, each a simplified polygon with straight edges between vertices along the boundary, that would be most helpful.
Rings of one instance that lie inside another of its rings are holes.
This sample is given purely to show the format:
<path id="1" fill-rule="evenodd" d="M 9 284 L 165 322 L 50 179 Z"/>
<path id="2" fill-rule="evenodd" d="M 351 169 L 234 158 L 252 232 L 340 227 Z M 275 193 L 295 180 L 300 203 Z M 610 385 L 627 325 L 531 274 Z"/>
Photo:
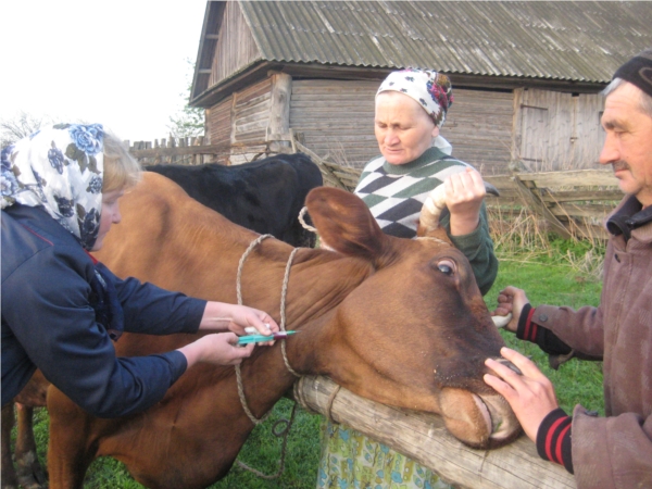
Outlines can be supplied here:
<path id="1" fill-rule="evenodd" d="M 226 2 L 217 46 L 213 55 L 209 88 L 260 58 L 251 30 L 238 2 Z"/>

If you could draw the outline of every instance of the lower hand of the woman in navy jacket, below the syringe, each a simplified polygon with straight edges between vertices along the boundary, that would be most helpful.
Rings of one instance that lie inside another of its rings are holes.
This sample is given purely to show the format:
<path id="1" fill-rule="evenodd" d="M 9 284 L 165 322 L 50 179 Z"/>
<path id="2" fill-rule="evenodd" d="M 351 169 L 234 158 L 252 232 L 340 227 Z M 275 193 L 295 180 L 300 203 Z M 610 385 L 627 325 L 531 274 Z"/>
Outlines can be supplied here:
<path id="1" fill-rule="evenodd" d="M 233 333 L 206 335 L 179 348 L 188 361 L 188 368 L 206 362 L 214 365 L 239 365 L 251 355 L 254 344 L 238 346 L 238 336 Z"/>

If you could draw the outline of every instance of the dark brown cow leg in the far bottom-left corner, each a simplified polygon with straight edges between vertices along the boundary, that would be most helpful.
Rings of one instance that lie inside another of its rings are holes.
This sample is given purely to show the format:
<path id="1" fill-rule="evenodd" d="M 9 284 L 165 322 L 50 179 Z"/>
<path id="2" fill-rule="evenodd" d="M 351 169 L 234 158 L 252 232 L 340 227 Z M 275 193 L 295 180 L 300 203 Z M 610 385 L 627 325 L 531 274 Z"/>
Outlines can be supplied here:
<path id="1" fill-rule="evenodd" d="M 18 429 L 16 438 L 15 457 L 17 465 L 18 482 L 25 489 L 40 489 L 47 487 L 47 476 L 41 468 L 36 454 L 34 439 L 34 408 L 16 402 L 16 417 Z"/>

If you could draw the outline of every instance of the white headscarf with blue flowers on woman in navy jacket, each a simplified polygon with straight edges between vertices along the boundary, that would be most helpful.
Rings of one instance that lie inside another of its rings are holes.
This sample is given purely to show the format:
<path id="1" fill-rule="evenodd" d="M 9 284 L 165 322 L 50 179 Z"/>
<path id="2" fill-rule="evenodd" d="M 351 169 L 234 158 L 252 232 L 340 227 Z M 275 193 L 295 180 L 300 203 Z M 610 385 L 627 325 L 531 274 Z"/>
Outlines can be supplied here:
<path id="1" fill-rule="evenodd" d="M 2 209 L 42 206 L 91 250 L 100 228 L 104 129 L 58 124 L 2 150 Z"/>

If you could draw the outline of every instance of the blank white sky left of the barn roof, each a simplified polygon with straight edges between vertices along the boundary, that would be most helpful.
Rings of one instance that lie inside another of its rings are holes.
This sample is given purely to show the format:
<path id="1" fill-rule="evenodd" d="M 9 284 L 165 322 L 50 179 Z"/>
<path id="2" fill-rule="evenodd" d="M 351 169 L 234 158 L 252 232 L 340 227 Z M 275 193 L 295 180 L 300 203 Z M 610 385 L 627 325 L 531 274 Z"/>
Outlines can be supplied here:
<path id="1" fill-rule="evenodd" d="M 0 118 L 170 134 L 192 79 L 205 0 L 13 0 L 0 7 Z"/>

